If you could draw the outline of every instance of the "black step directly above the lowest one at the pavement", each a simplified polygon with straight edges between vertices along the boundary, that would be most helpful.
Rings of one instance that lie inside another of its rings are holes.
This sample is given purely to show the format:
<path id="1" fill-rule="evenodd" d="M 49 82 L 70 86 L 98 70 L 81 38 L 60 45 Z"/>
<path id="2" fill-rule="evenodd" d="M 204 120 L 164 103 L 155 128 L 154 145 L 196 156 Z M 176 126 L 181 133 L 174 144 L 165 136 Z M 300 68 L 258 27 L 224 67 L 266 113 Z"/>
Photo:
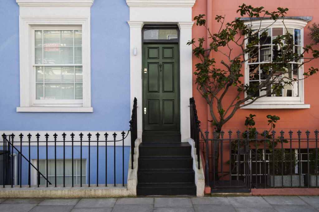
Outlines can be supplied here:
<path id="1" fill-rule="evenodd" d="M 137 181 L 139 183 L 194 183 L 193 169 L 139 169 Z"/>

